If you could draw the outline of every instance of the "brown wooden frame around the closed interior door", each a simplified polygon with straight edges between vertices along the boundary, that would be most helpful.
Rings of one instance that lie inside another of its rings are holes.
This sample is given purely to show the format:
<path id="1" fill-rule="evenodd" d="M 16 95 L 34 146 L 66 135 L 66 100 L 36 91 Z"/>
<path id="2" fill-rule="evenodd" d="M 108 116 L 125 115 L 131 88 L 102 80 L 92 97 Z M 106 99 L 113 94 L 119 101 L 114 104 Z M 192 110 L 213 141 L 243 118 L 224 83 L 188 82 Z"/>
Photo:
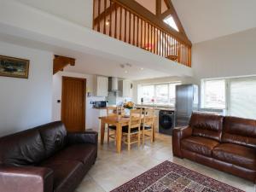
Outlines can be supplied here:
<path id="1" fill-rule="evenodd" d="M 61 82 L 61 121 L 64 116 L 64 102 L 63 102 L 63 97 L 64 97 L 64 80 L 65 79 L 74 79 L 74 80 L 80 80 L 83 81 L 84 84 L 84 91 L 83 91 L 83 131 L 85 131 L 85 117 L 86 117 L 86 79 L 84 78 L 74 78 L 74 77 L 68 77 L 68 76 L 62 76 L 62 82 Z"/>

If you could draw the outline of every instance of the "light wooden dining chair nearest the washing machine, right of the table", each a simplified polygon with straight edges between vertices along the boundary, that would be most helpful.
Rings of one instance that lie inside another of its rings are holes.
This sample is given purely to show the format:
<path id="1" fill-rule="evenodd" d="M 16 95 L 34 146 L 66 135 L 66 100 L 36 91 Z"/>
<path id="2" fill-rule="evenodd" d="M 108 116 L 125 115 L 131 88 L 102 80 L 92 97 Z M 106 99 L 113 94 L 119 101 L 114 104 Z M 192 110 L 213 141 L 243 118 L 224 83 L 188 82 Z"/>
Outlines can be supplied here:
<path id="1" fill-rule="evenodd" d="M 141 130 L 143 135 L 143 144 L 145 143 L 145 139 L 150 139 L 151 143 L 153 143 L 154 108 L 145 108 Z"/>

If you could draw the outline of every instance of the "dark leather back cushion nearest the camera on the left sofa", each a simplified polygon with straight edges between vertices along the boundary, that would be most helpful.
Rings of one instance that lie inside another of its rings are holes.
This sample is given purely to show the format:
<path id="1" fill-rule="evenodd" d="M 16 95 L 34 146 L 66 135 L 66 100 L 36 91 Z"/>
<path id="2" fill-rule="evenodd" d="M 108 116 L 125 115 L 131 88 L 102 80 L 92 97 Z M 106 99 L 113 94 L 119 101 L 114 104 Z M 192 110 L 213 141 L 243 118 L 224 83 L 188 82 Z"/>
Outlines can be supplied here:
<path id="1" fill-rule="evenodd" d="M 44 143 L 37 129 L 0 138 L 0 164 L 32 166 L 45 158 Z"/>

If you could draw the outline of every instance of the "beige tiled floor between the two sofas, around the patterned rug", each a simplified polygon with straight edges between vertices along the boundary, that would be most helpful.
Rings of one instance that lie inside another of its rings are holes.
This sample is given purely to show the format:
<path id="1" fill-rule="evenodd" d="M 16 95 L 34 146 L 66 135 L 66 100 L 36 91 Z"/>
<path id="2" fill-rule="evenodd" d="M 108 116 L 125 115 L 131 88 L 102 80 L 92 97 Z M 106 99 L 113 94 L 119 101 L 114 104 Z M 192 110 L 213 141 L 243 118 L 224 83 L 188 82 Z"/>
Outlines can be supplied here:
<path id="1" fill-rule="evenodd" d="M 190 160 L 181 160 L 172 155 L 172 137 L 158 135 L 155 143 L 149 141 L 145 146 L 135 144 L 129 153 L 123 146 L 121 154 L 116 154 L 114 142 L 109 145 L 99 145 L 96 164 L 84 177 L 83 182 L 75 192 L 105 192 L 137 177 L 148 169 L 165 160 L 171 160 L 196 172 L 200 172 L 218 181 L 228 183 L 238 189 L 254 192 L 254 185 L 239 177 L 218 172 L 207 166 L 202 166 Z"/>

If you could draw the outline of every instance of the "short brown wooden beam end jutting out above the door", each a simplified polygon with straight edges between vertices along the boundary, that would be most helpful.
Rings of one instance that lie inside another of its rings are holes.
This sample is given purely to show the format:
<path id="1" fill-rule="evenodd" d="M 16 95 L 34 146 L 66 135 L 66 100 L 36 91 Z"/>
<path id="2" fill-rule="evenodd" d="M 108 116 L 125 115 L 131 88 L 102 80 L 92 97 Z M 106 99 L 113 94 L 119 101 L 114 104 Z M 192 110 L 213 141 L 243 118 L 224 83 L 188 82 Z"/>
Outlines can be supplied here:
<path id="1" fill-rule="evenodd" d="M 63 71 L 64 67 L 67 67 L 67 65 L 74 66 L 75 59 L 66 56 L 55 55 L 53 61 L 53 74 L 58 73 L 59 71 Z"/>

